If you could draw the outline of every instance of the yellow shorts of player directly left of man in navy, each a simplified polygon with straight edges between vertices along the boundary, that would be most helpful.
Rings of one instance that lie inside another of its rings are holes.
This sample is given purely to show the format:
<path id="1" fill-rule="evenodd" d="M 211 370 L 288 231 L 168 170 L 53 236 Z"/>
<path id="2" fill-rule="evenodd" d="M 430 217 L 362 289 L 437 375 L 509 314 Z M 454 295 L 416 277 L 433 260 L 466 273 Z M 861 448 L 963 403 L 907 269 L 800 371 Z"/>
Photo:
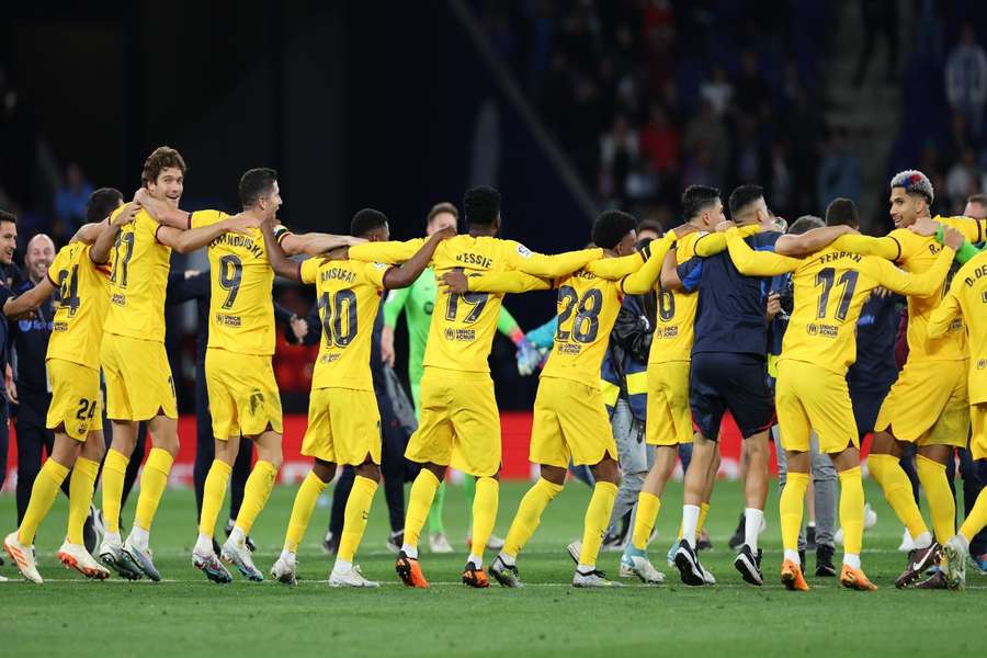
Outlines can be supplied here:
<path id="1" fill-rule="evenodd" d="M 645 440 L 649 445 L 692 443 L 692 408 L 689 406 L 688 361 L 648 364 L 648 418 Z"/>

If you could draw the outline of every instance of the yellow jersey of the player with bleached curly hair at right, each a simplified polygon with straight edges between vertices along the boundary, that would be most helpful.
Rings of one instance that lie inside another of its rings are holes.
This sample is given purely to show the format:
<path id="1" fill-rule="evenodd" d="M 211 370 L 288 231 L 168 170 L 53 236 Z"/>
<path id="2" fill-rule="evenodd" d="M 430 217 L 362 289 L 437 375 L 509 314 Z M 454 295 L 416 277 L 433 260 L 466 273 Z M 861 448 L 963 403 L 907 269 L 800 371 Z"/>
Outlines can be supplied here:
<path id="1" fill-rule="evenodd" d="M 935 217 L 945 226 L 958 229 L 971 242 L 983 241 L 987 236 L 987 222 L 966 217 Z M 841 236 L 833 248 L 893 260 L 912 274 L 927 271 L 942 247 L 932 236 L 920 236 L 907 228 L 896 228 L 883 238 Z M 953 270 L 955 273 L 955 269 Z M 931 361 L 961 361 L 967 356 L 966 332 L 956 322 L 950 331 L 937 339 L 929 338 L 929 318 L 950 287 L 952 274 L 933 294 L 908 298 L 908 359 Z"/>

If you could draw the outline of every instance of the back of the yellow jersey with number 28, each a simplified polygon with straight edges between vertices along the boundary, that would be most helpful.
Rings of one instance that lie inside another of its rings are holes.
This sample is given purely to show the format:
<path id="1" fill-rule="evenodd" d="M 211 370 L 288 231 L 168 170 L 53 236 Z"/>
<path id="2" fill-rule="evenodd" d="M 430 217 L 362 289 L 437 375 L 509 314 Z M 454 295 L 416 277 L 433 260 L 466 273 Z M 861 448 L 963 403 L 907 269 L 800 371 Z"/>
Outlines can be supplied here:
<path id="1" fill-rule="evenodd" d="M 621 310 L 621 284 L 579 270 L 557 285 L 558 328 L 542 376 L 600 388 L 600 366 Z"/>

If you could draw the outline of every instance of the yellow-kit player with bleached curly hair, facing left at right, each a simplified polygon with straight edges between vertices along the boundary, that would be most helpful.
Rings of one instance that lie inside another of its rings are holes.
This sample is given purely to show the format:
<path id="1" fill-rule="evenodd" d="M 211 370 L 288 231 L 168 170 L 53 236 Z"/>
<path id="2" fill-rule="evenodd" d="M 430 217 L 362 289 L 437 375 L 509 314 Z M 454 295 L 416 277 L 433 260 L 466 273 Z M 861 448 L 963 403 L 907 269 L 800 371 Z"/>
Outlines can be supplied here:
<path id="1" fill-rule="evenodd" d="M 929 179 L 920 171 L 903 171 L 890 181 L 895 230 L 883 238 L 842 236 L 832 247 L 878 256 L 917 274 L 928 270 L 935 260 L 940 246 L 933 235 L 940 224 L 958 229 L 971 242 L 987 236 L 987 222 L 983 219 L 933 219 L 932 201 Z M 910 585 L 935 564 L 941 543 L 955 534 L 956 502 L 946 479 L 945 464 L 955 447 L 966 445 L 969 433 L 966 332 L 957 321 L 941 338 L 932 339 L 928 334 L 929 317 L 948 287 L 949 282 L 931 296 L 908 298 L 908 361 L 881 406 L 867 457 L 871 474 L 915 540 L 916 548 L 909 553 L 908 566 L 895 580 L 896 587 Z M 918 446 L 916 469 L 929 499 L 934 538 L 898 463 L 905 442 Z"/>

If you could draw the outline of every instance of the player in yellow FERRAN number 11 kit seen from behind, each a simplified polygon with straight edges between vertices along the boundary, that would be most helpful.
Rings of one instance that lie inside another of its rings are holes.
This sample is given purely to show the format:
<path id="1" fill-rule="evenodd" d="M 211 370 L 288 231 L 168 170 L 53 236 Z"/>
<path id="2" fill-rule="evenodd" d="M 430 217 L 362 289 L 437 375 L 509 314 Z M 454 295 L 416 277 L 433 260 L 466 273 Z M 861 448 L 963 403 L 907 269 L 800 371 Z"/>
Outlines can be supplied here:
<path id="1" fill-rule="evenodd" d="M 836 200 L 826 211 L 828 226 L 856 229 L 856 207 Z M 792 273 L 794 309 L 778 364 L 775 408 L 789 474 L 779 503 L 784 560 L 781 579 L 790 590 L 808 590 L 798 556 L 802 506 L 809 481 L 809 434 L 829 454 L 840 478 L 840 523 L 843 566 L 840 582 L 874 590 L 861 570 L 863 484 L 860 446 L 847 389 L 847 370 L 856 360 L 856 320 L 871 291 L 884 286 L 903 295 L 927 297 L 941 290 L 963 235 L 949 230 L 946 249 L 922 274 L 909 275 L 885 260 L 827 247 L 804 259 L 756 252 L 736 229 L 727 231 L 730 258 L 741 274 L 773 276 Z"/>

